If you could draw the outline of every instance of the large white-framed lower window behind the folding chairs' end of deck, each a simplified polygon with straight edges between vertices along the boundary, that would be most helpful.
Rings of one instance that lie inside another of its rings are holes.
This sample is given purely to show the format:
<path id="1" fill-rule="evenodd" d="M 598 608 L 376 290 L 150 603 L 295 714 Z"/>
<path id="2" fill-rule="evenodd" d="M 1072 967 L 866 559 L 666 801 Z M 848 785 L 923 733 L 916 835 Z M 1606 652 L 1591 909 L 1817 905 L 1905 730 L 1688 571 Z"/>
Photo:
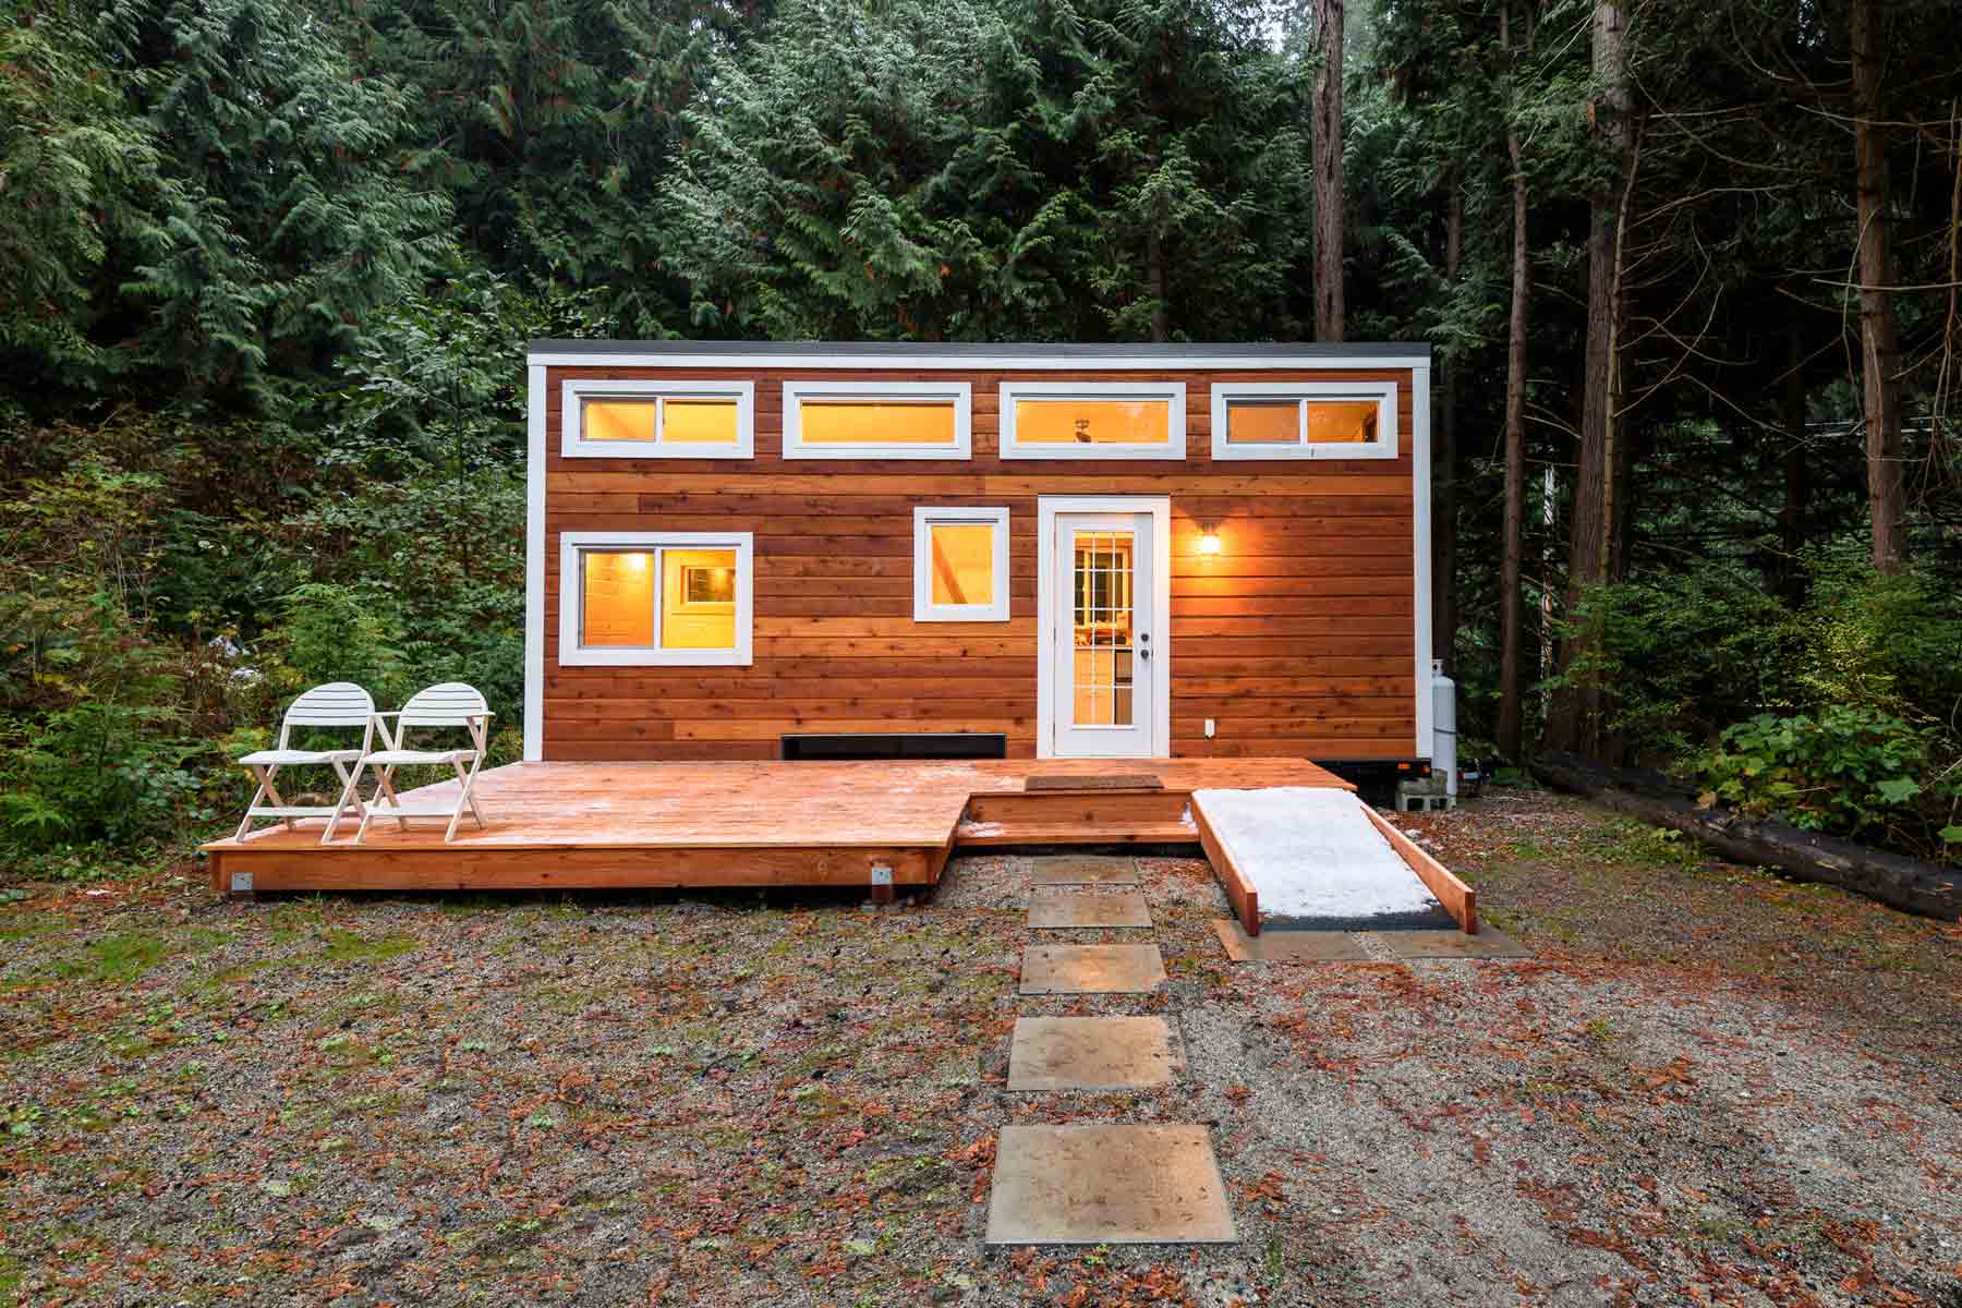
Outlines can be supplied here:
<path id="1" fill-rule="evenodd" d="M 561 531 L 561 667 L 748 667 L 749 531 Z"/>

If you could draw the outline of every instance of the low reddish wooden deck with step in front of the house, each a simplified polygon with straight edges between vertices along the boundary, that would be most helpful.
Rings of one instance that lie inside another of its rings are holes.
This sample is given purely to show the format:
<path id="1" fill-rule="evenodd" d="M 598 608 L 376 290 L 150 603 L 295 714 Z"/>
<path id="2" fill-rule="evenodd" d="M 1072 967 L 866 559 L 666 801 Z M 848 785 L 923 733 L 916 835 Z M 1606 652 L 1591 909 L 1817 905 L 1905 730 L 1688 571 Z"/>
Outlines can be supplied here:
<path id="1" fill-rule="evenodd" d="M 965 845 L 1197 845 L 1193 790 L 1283 784 L 1350 788 L 1307 759 L 512 763 L 477 779 L 490 828 L 465 820 L 447 845 L 434 820 L 377 822 L 361 845 L 304 820 L 204 853 L 220 892 L 875 886 L 875 869 L 903 888 Z M 404 802 L 445 796 L 455 782 Z"/>

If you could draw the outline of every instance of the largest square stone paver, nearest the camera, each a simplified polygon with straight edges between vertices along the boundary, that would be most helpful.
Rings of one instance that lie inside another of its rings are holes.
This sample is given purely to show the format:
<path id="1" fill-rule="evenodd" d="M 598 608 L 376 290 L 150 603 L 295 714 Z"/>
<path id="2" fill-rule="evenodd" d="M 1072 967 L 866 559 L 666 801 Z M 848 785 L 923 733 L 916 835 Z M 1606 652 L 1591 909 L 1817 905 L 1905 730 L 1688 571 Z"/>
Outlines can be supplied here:
<path id="1" fill-rule="evenodd" d="M 1005 1126 L 991 1245 L 1173 1245 L 1238 1239 L 1203 1126 Z"/>

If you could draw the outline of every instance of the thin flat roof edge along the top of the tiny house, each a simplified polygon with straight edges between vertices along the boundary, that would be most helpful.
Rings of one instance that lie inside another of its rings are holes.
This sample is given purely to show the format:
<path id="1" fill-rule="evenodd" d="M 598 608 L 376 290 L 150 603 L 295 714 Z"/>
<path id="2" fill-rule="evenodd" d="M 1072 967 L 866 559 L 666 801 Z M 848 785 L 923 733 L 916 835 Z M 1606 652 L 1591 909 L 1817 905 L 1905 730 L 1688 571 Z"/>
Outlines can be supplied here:
<path id="1" fill-rule="evenodd" d="M 526 343 L 526 357 L 830 357 L 830 359 L 1409 359 L 1428 361 L 1422 341 L 1205 341 L 1205 343 L 1056 343 L 1056 341 L 593 341 L 538 339 Z"/>

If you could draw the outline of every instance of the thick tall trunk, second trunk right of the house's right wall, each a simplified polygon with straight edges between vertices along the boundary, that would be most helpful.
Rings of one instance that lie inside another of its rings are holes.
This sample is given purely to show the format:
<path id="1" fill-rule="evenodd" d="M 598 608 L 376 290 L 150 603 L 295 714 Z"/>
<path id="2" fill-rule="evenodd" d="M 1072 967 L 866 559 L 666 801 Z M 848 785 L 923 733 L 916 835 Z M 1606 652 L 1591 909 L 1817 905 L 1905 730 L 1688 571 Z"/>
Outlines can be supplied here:
<path id="1" fill-rule="evenodd" d="M 1628 16 L 1617 0 L 1595 0 L 1593 69 L 1601 100 L 1593 106 L 1595 133 L 1613 151 L 1615 180 L 1593 198 L 1587 231 L 1587 349 L 1581 382 L 1581 449 L 1574 478 L 1574 516 L 1568 545 L 1568 618 L 1579 614 L 1591 586 L 1615 577 L 1621 561 L 1617 475 L 1626 465 L 1621 441 L 1621 259 L 1628 220 Z M 1601 631 L 1583 622 L 1564 641 L 1562 671 L 1572 671 L 1601 649 Z M 1546 739 L 1556 749 L 1601 751 L 1603 694 L 1587 675 L 1554 698 Z"/>

